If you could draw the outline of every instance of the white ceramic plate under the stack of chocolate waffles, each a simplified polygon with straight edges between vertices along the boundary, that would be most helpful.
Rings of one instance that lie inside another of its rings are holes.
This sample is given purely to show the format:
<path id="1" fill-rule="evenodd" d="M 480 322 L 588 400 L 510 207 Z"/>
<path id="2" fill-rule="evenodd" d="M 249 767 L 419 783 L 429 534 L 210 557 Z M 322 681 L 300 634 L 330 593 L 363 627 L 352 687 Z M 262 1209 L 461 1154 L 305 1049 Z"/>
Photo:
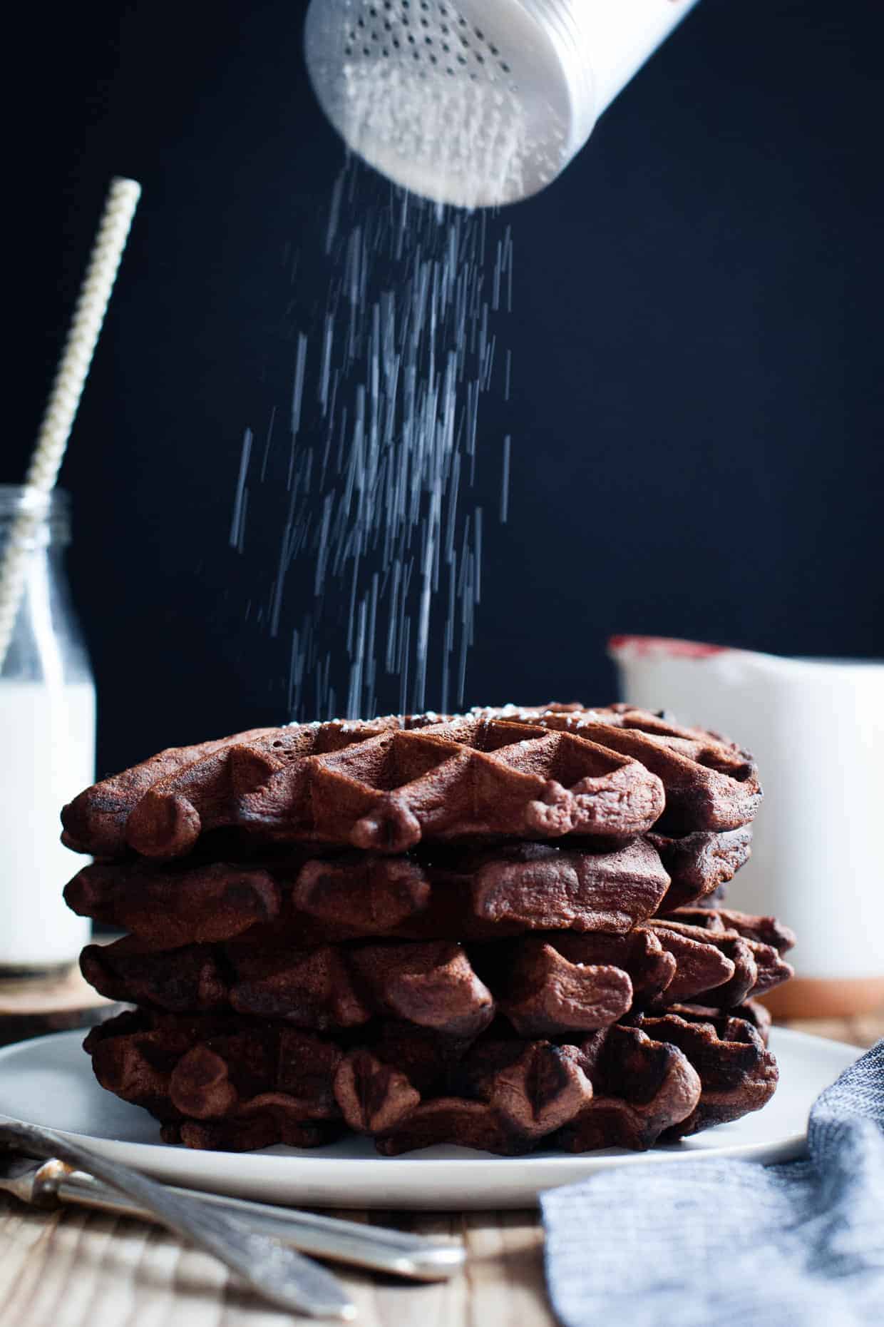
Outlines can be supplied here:
<path id="1" fill-rule="evenodd" d="M 159 1125 L 151 1116 L 98 1087 L 81 1046 L 82 1032 L 57 1032 L 0 1050 L 0 1116 L 69 1133 L 105 1156 L 193 1189 L 301 1206 L 411 1210 L 527 1208 L 543 1189 L 611 1165 L 677 1157 L 787 1161 L 803 1152 L 816 1096 L 860 1055 L 855 1046 L 774 1028 L 779 1088 L 763 1111 L 651 1152 L 494 1157 L 435 1147 L 379 1157 L 358 1137 L 325 1148 L 240 1153 L 166 1147 L 156 1141 Z"/>

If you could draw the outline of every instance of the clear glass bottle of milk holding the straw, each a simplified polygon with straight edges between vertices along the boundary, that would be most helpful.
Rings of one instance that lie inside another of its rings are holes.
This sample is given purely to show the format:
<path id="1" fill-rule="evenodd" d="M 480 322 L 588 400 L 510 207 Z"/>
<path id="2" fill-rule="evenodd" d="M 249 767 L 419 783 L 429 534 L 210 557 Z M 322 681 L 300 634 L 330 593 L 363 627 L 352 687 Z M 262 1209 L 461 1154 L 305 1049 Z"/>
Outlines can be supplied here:
<path id="1" fill-rule="evenodd" d="M 95 774 L 95 687 L 64 568 L 70 502 L 0 484 L 0 557 L 23 514 L 25 589 L 0 674 L 0 977 L 66 967 L 89 940 L 61 896 L 83 859 L 60 843 L 58 815 Z"/>

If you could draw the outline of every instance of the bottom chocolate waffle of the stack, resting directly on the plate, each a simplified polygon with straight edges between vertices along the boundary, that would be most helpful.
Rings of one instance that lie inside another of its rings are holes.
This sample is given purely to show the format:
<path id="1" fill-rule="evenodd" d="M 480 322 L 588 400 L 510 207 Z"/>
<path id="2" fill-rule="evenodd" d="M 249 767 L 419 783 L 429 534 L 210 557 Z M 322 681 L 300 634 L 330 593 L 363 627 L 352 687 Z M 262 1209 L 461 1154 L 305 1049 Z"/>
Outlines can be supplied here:
<path id="1" fill-rule="evenodd" d="M 750 1007 L 614 1024 L 577 1042 L 457 1039 L 375 1023 L 330 1040 L 239 1016 L 137 1010 L 86 1039 L 99 1083 L 150 1111 L 167 1143 L 317 1147 L 345 1127 L 398 1154 L 456 1143 L 504 1154 L 644 1149 L 758 1109 L 775 1085 Z"/>

